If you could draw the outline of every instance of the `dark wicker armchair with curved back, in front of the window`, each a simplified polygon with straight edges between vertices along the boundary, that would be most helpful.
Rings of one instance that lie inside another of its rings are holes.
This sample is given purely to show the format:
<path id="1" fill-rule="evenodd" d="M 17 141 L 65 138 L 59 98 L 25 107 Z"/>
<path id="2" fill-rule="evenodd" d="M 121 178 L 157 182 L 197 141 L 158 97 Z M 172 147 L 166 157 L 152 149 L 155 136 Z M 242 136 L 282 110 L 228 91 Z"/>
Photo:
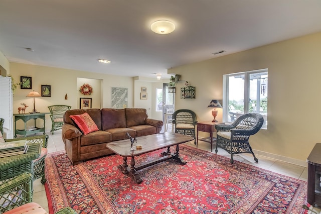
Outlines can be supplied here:
<path id="1" fill-rule="evenodd" d="M 255 162 L 252 148 L 249 144 L 251 135 L 257 133 L 263 125 L 263 117 L 258 113 L 248 113 L 240 116 L 232 124 L 218 124 L 215 126 L 217 130 L 216 149 L 220 147 L 231 154 L 230 162 L 233 163 L 233 154 L 251 153 Z"/>

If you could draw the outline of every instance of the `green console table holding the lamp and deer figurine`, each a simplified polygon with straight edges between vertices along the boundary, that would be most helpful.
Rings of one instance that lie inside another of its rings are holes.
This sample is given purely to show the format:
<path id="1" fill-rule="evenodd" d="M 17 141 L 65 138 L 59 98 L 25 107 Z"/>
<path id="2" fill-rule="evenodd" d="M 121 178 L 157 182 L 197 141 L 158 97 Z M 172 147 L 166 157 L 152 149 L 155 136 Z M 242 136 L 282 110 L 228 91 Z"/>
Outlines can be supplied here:
<path id="1" fill-rule="evenodd" d="M 46 134 L 45 132 L 45 125 L 46 125 L 46 114 L 49 113 L 34 113 L 34 114 L 14 114 L 15 116 L 15 138 L 17 137 L 17 134 L 19 135 L 24 135 L 25 137 L 27 135 L 32 135 L 36 134 L 39 132 L 44 132 L 44 135 Z M 34 119 L 35 120 L 35 130 L 29 130 L 27 128 L 27 122 Z M 44 127 L 43 128 L 37 128 L 36 127 L 36 120 L 37 119 L 42 119 L 44 120 Z M 22 120 L 25 123 L 25 129 L 24 130 L 17 130 L 17 121 Z"/>

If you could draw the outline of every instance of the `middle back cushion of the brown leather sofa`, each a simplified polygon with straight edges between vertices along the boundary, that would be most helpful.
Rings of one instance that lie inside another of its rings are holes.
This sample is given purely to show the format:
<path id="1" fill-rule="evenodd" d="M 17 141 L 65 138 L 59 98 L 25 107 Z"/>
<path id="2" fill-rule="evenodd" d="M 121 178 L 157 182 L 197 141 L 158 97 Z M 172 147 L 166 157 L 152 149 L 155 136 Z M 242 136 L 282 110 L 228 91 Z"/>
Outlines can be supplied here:
<path id="1" fill-rule="evenodd" d="M 103 131 L 114 128 L 126 128 L 125 110 L 123 109 L 102 109 L 101 121 Z"/>

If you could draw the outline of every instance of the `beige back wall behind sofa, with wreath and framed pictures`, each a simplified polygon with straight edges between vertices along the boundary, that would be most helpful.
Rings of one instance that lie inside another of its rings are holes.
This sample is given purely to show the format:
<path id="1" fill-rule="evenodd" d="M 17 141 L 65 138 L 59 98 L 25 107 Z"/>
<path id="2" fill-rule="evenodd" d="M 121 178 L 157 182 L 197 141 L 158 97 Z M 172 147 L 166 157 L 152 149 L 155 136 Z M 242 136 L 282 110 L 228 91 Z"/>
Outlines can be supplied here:
<path id="1" fill-rule="evenodd" d="M 72 109 L 79 109 L 80 97 L 92 98 L 93 108 L 100 108 L 100 106 L 101 108 L 111 108 L 111 87 L 127 87 L 129 94 L 128 108 L 133 108 L 133 96 L 130 95 L 133 94 L 132 77 L 113 76 L 21 63 L 10 63 L 10 71 L 16 81 L 20 80 L 20 76 L 32 77 L 32 89 L 21 89 L 18 87 L 15 91 L 14 114 L 18 113 L 21 102 L 25 102 L 29 105 L 26 112 L 31 112 L 33 110 L 33 98 L 26 97 L 26 95 L 32 90 L 36 90 L 40 93 L 41 85 L 51 85 L 51 97 L 35 98 L 38 112 L 49 112 L 47 106 L 54 104 L 71 105 Z M 85 79 L 88 81 L 85 81 Z M 91 95 L 82 95 L 79 92 L 79 87 L 84 81 L 93 86 L 93 93 Z M 67 100 L 65 99 L 66 93 L 68 95 Z M 97 94 L 99 94 L 98 97 Z M 102 99 L 100 97 L 102 97 Z M 21 126 L 22 123 L 17 124 L 18 128 Z M 49 115 L 47 115 L 46 130 L 50 128 L 51 120 Z"/>

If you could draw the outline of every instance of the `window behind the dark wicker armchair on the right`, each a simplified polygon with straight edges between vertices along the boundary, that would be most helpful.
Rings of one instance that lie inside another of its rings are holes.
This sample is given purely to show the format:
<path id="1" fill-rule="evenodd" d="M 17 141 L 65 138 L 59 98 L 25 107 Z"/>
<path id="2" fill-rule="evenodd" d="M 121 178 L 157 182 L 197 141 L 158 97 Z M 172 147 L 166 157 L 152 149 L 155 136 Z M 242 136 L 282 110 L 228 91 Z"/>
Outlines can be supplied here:
<path id="1" fill-rule="evenodd" d="M 249 112 L 260 113 L 267 128 L 267 69 L 223 76 L 223 121 L 233 122 Z"/>

